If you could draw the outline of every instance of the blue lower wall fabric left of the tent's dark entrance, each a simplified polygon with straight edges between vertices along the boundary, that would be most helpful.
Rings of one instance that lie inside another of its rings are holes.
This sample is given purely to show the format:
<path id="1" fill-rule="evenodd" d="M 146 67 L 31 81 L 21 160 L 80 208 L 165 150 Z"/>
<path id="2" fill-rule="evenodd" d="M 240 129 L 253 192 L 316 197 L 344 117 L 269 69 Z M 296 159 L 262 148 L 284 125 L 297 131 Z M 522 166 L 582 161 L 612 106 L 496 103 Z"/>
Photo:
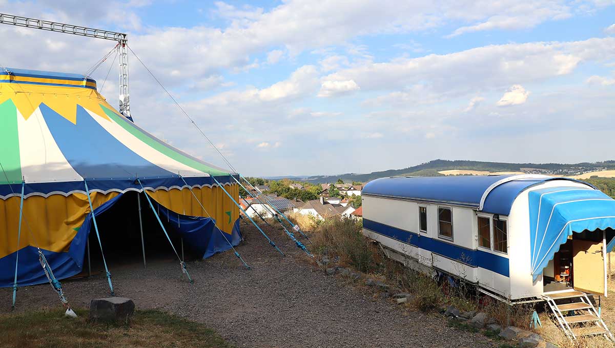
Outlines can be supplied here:
<path id="1" fill-rule="evenodd" d="M 96 208 L 94 210 L 96 216 L 111 208 L 120 197 L 122 197 L 122 194 L 117 195 L 117 197 L 108 200 L 105 204 Z M 92 229 L 92 213 L 85 216 L 84 223 L 73 238 L 68 252 L 57 253 L 55 251 L 41 249 L 57 279 L 66 279 L 81 273 L 83 269 L 85 245 L 87 243 L 87 236 L 90 234 L 90 229 Z M 1 288 L 13 286 L 15 258 L 17 258 L 17 251 L 4 258 L 0 258 Z M 38 258 L 38 249 L 36 247 L 28 246 L 19 250 L 19 266 L 17 267 L 18 286 L 23 287 L 25 285 L 48 282 L 47 276 L 42 270 Z"/>

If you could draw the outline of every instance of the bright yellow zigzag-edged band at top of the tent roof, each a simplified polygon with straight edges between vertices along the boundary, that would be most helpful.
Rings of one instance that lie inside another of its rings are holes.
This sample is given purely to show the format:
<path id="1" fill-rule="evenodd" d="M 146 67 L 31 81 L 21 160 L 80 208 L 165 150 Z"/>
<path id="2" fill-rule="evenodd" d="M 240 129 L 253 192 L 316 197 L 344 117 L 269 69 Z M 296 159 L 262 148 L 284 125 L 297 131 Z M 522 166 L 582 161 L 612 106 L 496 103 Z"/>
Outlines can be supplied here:
<path id="1" fill-rule="evenodd" d="M 83 87 L 0 83 L 0 104 L 9 99 L 26 120 L 41 103 L 45 103 L 73 124 L 77 122 L 77 105 L 109 121 L 111 120 L 101 105 L 116 112 L 96 90 Z"/>

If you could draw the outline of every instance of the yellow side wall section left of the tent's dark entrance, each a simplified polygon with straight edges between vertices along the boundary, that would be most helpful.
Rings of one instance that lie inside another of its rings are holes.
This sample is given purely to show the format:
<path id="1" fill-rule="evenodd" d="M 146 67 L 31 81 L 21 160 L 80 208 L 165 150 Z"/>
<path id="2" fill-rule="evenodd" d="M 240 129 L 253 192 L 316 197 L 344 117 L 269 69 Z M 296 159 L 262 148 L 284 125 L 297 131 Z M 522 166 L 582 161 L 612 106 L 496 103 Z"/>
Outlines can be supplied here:
<path id="1" fill-rule="evenodd" d="M 96 209 L 118 194 L 91 192 L 90 198 Z M 55 252 L 68 251 L 77 229 L 90 213 L 85 194 L 28 197 L 23 200 L 22 236 L 17 247 L 20 199 L 17 196 L 0 200 L 0 258 L 28 245 Z"/>

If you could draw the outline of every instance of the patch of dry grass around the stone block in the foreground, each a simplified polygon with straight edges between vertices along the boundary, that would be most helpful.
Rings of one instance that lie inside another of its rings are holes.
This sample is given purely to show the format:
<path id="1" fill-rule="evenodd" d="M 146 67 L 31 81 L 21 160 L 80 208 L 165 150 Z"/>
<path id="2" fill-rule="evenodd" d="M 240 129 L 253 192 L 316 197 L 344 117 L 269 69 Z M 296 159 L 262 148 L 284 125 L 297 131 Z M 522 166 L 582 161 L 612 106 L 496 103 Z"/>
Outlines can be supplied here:
<path id="1" fill-rule="evenodd" d="M 135 312 L 130 323 L 90 323 L 87 310 L 77 318 L 63 310 L 44 309 L 0 315 L 0 346 L 7 348 L 72 347 L 232 347 L 214 331 L 158 310 Z"/>

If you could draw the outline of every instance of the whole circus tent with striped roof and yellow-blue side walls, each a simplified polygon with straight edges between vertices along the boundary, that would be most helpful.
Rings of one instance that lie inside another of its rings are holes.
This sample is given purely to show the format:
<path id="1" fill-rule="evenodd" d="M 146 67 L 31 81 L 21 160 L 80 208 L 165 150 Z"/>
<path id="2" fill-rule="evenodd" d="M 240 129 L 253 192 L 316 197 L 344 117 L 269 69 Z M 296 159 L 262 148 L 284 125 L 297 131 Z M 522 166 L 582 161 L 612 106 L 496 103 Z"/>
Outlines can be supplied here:
<path id="1" fill-rule="evenodd" d="M 234 174 L 130 122 L 87 77 L 0 73 L 0 148 L 0 287 L 13 285 L 17 252 L 20 286 L 47 282 L 38 248 L 58 279 L 82 271 L 93 230 L 86 192 L 98 216 L 143 184 L 159 213 L 204 258 L 241 239 L 239 210 L 216 183 L 237 200 Z"/>

